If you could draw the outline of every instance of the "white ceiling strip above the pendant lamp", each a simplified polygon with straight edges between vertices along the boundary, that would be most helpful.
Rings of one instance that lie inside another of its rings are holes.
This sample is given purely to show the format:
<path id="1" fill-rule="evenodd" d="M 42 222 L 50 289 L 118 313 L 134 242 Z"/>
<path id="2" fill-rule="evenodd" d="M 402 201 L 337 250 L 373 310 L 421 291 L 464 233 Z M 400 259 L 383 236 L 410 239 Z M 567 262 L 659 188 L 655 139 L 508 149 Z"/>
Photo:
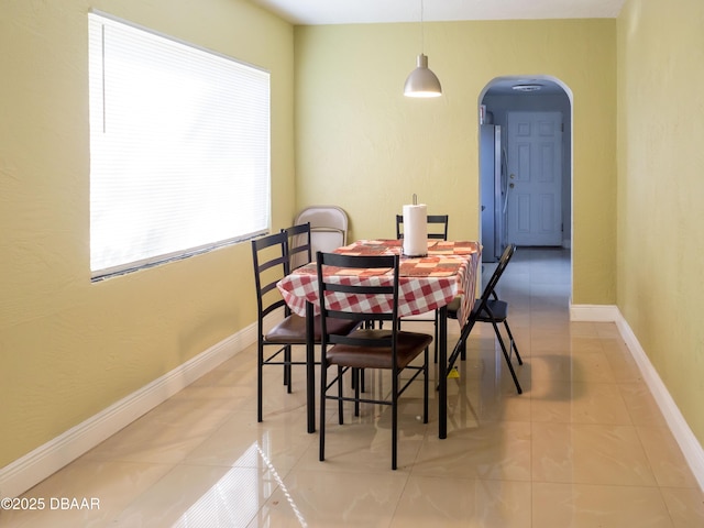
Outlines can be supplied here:
<path id="1" fill-rule="evenodd" d="M 251 0 L 297 25 L 418 22 L 422 0 Z M 424 21 L 614 19 L 626 0 L 425 0 Z"/>

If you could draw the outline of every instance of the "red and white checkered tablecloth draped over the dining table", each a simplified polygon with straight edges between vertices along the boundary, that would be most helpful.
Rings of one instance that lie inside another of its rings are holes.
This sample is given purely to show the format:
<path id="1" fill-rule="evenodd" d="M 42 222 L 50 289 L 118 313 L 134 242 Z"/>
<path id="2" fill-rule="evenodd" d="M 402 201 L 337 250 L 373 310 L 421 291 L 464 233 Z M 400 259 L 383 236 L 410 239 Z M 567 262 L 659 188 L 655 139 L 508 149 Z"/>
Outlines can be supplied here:
<path id="1" fill-rule="evenodd" d="M 402 253 L 399 240 L 360 240 L 336 250 L 345 255 L 388 255 Z M 428 241 L 428 255 L 405 257 L 402 255 L 399 277 L 398 315 L 407 317 L 436 310 L 462 296 L 459 322 L 464 324 L 474 304 L 474 288 L 481 256 L 476 242 Z M 331 282 L 340 284 L 391 285 L 392 271 L 359 272 L 333 268 Z M 318 278 L 316 265 L 308 264 L 278 283 L 286 304 L 290 309 L 305 317 L 306 301 L 310 301 L 316 314 L 320 312 L 318 300 Z M 337 294 L 333 309 L 355 309 L 360 311 L 382 312 L 391 309 L 391 298 Z"/>

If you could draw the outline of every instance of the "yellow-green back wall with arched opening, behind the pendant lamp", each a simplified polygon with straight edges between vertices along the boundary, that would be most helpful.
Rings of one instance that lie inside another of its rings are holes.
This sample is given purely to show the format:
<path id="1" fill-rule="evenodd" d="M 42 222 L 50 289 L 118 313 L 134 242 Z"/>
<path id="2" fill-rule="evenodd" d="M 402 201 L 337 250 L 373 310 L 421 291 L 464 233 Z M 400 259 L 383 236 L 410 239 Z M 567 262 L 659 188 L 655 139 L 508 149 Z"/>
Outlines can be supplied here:
<path id="1" fill-rule="evenodd" d="M 411 24 L 297 26 L 298 206 L 337 204 L 352 238 L 393 237 L 411 195 L 479 237 L 477 103 L 499 76 L 548 75 L 573 95 L 573 302 L 616 300 L 616 21 L 425 24 L 443 96 L 403 96 Z"/>

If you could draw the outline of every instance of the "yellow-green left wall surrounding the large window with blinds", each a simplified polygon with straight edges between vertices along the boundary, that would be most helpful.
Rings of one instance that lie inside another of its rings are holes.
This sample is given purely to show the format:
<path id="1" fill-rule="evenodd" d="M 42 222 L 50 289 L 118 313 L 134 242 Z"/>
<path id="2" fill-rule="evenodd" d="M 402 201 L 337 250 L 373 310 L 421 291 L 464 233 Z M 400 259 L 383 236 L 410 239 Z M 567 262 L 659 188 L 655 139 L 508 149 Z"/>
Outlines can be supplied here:
<path id="1" fill-rule="evenodd" d="M 0 468 L 255 319 L 246 243 L 90 283 L 91 8 L 271 70 L 273 227 L 295 212 L 290 24 L 242 0 L 2 0 Z"/>

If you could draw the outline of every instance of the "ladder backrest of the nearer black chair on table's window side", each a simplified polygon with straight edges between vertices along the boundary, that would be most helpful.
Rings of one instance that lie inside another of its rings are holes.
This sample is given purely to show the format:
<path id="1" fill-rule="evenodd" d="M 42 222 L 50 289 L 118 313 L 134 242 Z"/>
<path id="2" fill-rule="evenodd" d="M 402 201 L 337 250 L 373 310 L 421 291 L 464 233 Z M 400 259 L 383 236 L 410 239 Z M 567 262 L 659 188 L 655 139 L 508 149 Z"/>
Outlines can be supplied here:
<path id="1" fill-rule="evenodd" d="M 288 316 L 290 309 L 282 297 L 276 283 L 288 275 L 288 235 L 285 231 L 252 241 L 254 284 L 256 287 L 257 322 L 260 331 L 264 317 L 283 307 Z"/>

